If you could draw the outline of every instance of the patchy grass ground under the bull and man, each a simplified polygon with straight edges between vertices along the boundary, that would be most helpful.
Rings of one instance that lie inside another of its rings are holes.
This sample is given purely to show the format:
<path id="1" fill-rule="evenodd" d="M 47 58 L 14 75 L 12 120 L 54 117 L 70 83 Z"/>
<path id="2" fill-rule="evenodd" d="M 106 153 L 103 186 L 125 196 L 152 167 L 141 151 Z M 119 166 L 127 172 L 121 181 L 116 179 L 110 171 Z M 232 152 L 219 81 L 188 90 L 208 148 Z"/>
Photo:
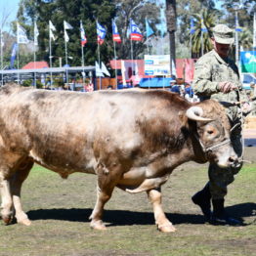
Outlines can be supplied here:
<path id="1" fill-rule="evenodd" d="M 251 158 L 254 158 L 254 149 Z M 246 157 L 245 157 L 246 158 Z M 227 209 L 242 227 L 203 223 L 191 196 L 207 180 L 206 165 L 185 164 L 163 186 L 163 205 L 177 228 L 161 234 L 147 194 L 116 189 L 106 205 L 107 231 L 93 231 L 89 216 L 96 199 L 96 176 L 73 174 L 67 180 L 35 166 L 22 189 L 32 225 L 0 226 L 0 255 L 256 255 L 256 163 L 245 164 L 229 187 Z"/>

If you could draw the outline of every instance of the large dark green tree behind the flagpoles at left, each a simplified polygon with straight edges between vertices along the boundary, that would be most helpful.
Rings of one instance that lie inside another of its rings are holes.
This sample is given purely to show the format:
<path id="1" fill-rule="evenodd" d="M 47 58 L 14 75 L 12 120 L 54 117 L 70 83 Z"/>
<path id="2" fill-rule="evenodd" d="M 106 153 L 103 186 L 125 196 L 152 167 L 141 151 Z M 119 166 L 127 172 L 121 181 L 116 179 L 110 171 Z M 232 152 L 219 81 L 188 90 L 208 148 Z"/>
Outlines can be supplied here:
<path id="1" fill-rule="evenodd" d="M 105 43 L 101 46 L 101 60 L 107 62 L 112 56 L 111 43 L 111 18 L 115 15 L 113 1 L 107 0 L 74 0 L 74 1 L 41 1 L 21 0 L 18 12 L 18 20 L 28 30 L 30 38 L 33 38 L 33 21 L 37 22 L 39 29 L 39 51 L 37 59 L 49 62 L 49 21 L 52 21 L 57 31 L 54 32 L 57 39 L 52 42 L 52 55 L 54 65 L 59 65 L 59 58 L 64 60 L 64 21 L 73 26 L 67 31 L 69 42 L 67 43 L 68 64 L 81 64 L 80 48 L 80 21 L 83 21 L 88 38 L 85 50 L 85 64 L 94 64 L 97 60 L 97 32 L 96 20 L 107 28 Z"/>

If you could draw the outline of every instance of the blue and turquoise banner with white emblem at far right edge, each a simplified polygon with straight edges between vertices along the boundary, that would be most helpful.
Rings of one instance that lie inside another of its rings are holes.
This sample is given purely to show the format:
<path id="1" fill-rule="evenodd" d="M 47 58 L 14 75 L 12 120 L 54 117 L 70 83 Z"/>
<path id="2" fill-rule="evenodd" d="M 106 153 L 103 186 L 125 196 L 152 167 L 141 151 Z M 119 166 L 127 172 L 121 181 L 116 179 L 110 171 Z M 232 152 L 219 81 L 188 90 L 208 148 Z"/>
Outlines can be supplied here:
<path id="1" fill-rule="evenodd" d="M 240 52 L 241 72 L 256 73 L 256 52 L 245 51 Z"/>

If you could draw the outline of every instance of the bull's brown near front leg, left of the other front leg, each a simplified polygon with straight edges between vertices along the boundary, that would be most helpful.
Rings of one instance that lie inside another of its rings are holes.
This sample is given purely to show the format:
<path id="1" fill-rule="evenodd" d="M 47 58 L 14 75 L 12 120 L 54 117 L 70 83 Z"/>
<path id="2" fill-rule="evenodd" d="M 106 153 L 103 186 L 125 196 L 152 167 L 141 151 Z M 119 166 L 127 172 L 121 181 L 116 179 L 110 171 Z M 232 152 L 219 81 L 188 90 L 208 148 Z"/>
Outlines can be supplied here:
<path id="1" fill-rule="evenodd" d="M 95 230 L 106 230 L 107 228 L 103 223 L 104 206 L 110 199 L 113 189 L 121 176 L 121 172 L 119 168 L 117 168 L 117 165 L 111 169 L 108 169 L 106 166 L 100 163 L 97 167 L 97 174 L 97 201 L 93 213 L 90 216 L 90 219 L 92 220 L 90 227 Z"/>

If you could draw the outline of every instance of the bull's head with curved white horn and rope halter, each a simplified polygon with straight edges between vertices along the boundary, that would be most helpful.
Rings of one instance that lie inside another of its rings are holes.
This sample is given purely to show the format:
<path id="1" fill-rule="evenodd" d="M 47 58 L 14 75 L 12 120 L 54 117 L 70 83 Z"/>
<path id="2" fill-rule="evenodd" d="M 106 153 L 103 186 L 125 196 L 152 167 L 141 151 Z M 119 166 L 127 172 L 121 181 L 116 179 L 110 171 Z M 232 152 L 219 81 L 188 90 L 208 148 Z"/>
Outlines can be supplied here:
<path id="1" fill-rule="evenodd" d="M 214 118 L 212 115 L 211 118 L 203 117 L 203 108 L 198 106 L 190 107 L 186 114 L 189 119 L 196 121 L 193 136 L 204 157 L 222 168 L 235 167 L 239 163 L 230 140 L 230 123 L 225 110 L 221 110 L 215 110 Z M 195 149 L 195 153 L 198 150 Z"/>

